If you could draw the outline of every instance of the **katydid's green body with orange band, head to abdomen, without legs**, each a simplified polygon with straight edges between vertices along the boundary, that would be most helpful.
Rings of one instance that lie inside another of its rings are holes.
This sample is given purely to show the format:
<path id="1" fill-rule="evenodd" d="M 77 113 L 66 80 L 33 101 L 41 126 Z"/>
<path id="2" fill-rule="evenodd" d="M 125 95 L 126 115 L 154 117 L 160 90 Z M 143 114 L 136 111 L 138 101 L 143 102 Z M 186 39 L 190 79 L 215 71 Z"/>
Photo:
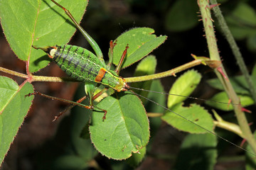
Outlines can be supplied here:
<path id="1" fill-rule="evenodd" d="M 117 91 L 123 91 L 127 86 L 124 79 L 114 75 L 112 71 L 107 71 L 100 60 L 85 48 L 64 45 L 47 49 L 45 51 L 53 61 L 74 79 L 101 83 Z"/>

